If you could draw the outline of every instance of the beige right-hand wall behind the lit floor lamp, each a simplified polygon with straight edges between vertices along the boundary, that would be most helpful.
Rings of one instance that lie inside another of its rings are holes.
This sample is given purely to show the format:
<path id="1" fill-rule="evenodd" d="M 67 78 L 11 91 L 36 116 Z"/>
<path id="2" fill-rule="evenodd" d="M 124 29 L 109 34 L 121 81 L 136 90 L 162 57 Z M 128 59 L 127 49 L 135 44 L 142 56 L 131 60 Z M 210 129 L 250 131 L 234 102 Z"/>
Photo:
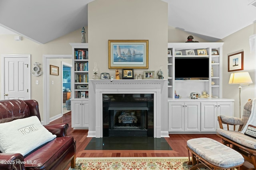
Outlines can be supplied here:
<path id="1" fill-rule="evenodd" d="M 238 84 L 228 84 L 230 74 L 232 72 L 228 72 L 228 55 L 244 51 L 244 70 L 236 71 L 242 72 L 247 71 L 249 72 L 253 84 L 250 86 L 243 86 L 241 90 L 241 112 L 244 104 L 247 100 L 255 98 L 255 52 L 250 52 L 250 45 L 249 45 L 249 37 L 256 33 L 255 31 L 256 23 L 245 27 L 225 37 L 223 40 L 223 97 L 230 98 L 235 100 L 234 105 L 234 115 L 239 117 L 239 91 L 238 91 Z"/>

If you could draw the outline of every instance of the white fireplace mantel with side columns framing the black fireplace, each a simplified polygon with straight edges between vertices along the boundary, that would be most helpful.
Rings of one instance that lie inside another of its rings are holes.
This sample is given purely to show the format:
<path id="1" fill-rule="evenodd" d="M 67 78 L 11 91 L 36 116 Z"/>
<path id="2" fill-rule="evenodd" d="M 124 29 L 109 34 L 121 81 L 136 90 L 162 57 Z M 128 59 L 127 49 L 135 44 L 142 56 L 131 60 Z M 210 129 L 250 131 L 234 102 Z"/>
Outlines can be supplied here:
<path id="1" fill-rule="evenodd" d="M 88 137 L 103 137 L 102 94 L 154 94 L 154 137 L 169 137 L 167 80 L 89 80 Z"/>

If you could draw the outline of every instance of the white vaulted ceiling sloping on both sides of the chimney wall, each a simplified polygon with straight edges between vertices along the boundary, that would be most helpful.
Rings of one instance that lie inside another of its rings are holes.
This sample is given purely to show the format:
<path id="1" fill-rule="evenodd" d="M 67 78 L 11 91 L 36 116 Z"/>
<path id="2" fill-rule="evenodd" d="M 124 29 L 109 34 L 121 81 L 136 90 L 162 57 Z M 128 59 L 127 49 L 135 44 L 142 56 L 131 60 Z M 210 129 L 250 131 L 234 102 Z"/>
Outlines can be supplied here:
<path id="1" fill-rule="evenodd" d="M 92 1 L 0 0 L 0 34 L 48 43 L 87 26 L 87 4 Z M 215 42 L 256 21 L 256 0 L 163 1 L 168 3 L 169 26 L 206 41 Z"/>

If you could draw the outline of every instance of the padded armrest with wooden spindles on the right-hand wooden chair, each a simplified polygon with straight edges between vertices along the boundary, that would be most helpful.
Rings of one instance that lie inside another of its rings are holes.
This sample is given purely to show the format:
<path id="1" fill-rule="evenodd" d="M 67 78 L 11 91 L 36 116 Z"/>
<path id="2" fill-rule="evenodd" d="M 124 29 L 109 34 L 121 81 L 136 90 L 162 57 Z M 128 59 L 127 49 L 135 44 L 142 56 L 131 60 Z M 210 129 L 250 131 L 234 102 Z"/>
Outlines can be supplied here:
<path id="1" fill-rule="evenodd" d="M 243 120 L 239 117 L 232 117 L 232 116 L 225 116 L 220 115 L 218 116 L 218 122 L 220 128 L 223 129 L 223 124 L 226 124 L 229 130 L 228 125 L 234 125 L 234 131 L 236 130 L 236 125 L 239 125 L 238 131 L 241 131 L 242 125 L 244 124 Z"/>

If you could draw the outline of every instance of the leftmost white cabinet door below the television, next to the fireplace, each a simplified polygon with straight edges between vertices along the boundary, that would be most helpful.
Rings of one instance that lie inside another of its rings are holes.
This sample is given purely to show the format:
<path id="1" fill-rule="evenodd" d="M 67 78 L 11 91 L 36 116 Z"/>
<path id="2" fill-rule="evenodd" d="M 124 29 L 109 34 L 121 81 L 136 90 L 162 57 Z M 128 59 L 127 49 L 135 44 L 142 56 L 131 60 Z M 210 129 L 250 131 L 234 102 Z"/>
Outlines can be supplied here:
<path id="1" fill-rule="evenodd" d="M 169 102 L 168 103 L 168 131 L 184 131 L 184 103 L 183 102 Z"/>

